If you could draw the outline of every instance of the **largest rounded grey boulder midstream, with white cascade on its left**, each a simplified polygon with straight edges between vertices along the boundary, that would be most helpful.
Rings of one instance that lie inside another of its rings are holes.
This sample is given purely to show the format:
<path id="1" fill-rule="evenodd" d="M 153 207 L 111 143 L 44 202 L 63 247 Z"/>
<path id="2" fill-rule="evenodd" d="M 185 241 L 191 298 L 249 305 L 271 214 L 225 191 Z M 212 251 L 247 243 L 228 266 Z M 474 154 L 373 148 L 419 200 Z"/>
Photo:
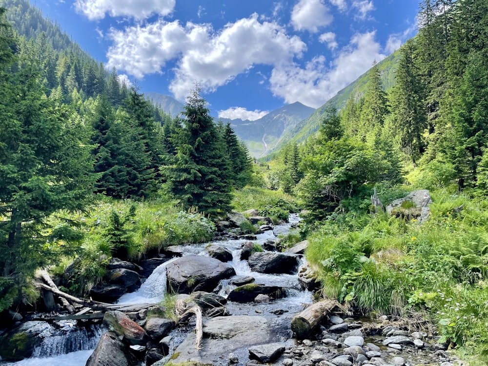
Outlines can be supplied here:
<path id="1" fill-rule="evenodd" d="M 195 289 L 212 291 L 219 281 L 235 274 L 230 264 L 198 255 L 178 258 L 166 267 L 168 288 L 175 293 L 190 293 Z"/>

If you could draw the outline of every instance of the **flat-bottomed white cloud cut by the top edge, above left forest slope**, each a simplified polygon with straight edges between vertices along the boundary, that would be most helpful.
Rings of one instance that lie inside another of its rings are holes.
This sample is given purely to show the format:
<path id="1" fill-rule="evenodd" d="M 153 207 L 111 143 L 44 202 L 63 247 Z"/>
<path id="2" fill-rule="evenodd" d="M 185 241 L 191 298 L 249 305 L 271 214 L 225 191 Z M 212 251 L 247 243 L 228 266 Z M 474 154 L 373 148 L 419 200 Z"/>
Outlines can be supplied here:
<path id="1" fill-rule="evenodd" d="M 152 14 L 161 16 L 173 12 L 176 0 L 76 0 L 75 8 L 89 20 L 111 17 L 129 16 L 138 20 Z"/>

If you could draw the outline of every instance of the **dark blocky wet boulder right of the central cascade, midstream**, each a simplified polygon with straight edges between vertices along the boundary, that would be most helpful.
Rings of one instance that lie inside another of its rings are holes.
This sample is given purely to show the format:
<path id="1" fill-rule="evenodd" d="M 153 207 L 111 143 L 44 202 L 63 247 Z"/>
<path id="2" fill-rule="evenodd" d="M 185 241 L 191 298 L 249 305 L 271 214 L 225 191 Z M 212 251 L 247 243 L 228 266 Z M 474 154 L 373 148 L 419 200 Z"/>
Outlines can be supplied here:
<path id="1" fill-rule="evenodd" d="M 296 273 L 298 257 L 278 252 L 257 252 L 249 257 L 249 267 L 260 273 Z"/>

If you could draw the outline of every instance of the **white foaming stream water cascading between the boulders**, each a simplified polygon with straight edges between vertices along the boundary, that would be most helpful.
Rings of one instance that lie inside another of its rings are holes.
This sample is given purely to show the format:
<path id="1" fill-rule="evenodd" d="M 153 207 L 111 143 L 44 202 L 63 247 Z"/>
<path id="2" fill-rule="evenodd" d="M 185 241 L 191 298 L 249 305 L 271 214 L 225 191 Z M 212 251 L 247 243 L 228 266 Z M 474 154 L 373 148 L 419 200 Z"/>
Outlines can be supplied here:
<path id="1" fill-rule="evenodd" d="M 268 240 L 276 240 L 277 235 L 289 232 L 291 225 L 299 221 L 296 214 L 289 217 L 289 223 L 277 225 L 273 230 L 267 230 L 257 235 L 253 242 L 264 244 Z M 248 240 L 229 240 L 217 241 L 212 244 L 219 244 L 233 253 L 233 260 L 229 262 L 239 277 L 250 276 L 255 279 L 255 283 L 263 285 L 276 285 L 286 288 L 286 297 L 283 299 L 271 301 L 266 304 L 237 304 L 227 303 L 227 309 L 232 315 L 261 315 L 270 320 L 276 333 L 287 339 L 291 336 L 289 325 L 293 315 L 302 310 L 302 304 L 311 303 L 311 294 L 308 291 L 302 291 L 296 275 L 287 274 L 262 274 L 252 272 L 247 261 L 240 260 L 241 245 Z M 183 255 L 196 254 L 208 256 L 205 246 L 211 243 L 183 245 Z M 142 304 L 157 303 L 166 294 L 166 265 L 172 260 L 161 264 L 157 267 L 142 286 L 135 292 L 123 295 L 119 299 L 119 304 Z M 228 281 L 223 281 L 220 286 L 220 294 L 224 297 L 235 288 L 229 285 Z M 275 312 L 283 312 L 283 315 L 277 316 Z M 61 323 L 61 322 L 60 322 Z M 98 340 L 100 339 L 102 327 L 92 327 L 89 329 L 79 328 L 76 323 L 64 322 L 57 329 L 51 329 L 50 334 L 46 334 L 43 342 L 38 346 L 32 358 L 17 363 L 6 364 L 9 366 L 83 366 L 86 360 L 93 352 Z M 60 332 L 60 329 L 64 329 Z M 177 331 L 178 332 L 178 331 Z M 181 330 L 179 330 L 181 333 Z M 184 334 L 176 339 L 183 340 Z M 174 347 L 177 346 L 176 342 Z"/>

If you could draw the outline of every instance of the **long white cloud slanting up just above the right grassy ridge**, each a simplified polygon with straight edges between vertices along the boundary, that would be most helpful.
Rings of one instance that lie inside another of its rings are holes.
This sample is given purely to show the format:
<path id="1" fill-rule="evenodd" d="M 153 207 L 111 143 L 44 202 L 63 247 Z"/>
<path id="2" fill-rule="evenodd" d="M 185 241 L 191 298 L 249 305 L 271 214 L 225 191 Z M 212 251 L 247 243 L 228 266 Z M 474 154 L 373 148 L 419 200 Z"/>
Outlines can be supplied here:
<path id="1" fill-rule="evenodd" d="M 317 108 L 365 73 L 372 61 L 383 60 L 380 48 L 375 32 L 356 34 L 329 65 L 320 56 L 307 62 L 305 68 L 288 64 L 273 69 L 271 91 L 287 103 L 300 101 Z"/>

